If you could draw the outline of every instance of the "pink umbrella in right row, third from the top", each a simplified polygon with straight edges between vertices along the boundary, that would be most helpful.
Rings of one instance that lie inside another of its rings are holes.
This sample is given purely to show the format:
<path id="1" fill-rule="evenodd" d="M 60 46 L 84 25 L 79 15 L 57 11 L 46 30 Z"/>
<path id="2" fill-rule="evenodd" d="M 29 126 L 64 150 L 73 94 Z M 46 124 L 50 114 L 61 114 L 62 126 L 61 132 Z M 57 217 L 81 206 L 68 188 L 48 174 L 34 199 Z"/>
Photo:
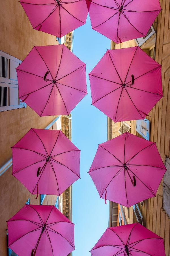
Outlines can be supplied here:
<path id="1" fill-rule="evenodd" d="M 128 132 L 100 144 L 89 170 L 100 198 L 126 207 L 154 197 L 165 172 L 156 143 Z"/>

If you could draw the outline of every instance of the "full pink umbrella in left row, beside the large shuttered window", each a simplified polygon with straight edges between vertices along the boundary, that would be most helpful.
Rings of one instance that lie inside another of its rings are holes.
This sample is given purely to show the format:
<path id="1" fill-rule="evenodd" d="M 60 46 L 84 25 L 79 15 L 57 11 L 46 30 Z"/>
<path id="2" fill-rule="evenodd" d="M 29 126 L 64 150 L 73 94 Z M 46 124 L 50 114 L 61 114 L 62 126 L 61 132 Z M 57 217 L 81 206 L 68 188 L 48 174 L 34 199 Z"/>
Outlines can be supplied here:
<path id="1" fill-rule="evenodd" d="M 17 67 L 19 98 L 38 115 L 68 115 L 87 94 L 85 63 L 61 45 L 34 46 Z"/>

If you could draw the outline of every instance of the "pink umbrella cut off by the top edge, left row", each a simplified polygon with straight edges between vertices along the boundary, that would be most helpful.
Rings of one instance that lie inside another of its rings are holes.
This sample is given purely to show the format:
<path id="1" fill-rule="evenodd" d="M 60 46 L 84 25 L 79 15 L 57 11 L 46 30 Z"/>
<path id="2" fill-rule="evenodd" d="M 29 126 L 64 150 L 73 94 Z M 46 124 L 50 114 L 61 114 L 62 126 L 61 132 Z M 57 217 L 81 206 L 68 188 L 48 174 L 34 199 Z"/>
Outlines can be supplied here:
<path id="1" fill-rule="evenodd" d="M 85 0 L 25 0 L 20 3 L 33 29 L 62 37 L 85 24 Z"/>

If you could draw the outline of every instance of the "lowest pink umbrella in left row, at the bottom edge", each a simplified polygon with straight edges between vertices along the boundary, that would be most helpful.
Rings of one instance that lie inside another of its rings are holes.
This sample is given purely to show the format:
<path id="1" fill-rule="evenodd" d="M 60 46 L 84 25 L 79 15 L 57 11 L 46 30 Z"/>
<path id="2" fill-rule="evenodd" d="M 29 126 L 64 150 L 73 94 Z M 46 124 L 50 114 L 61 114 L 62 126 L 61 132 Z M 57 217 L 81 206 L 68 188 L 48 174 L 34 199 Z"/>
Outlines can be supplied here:
<path id="1" fill-rule="evenodd" d="M 8 247 L 24 256 L 66 256 L 74 251 L 74 224 L 54 205 L 25 205 L 8 224 Z"/>

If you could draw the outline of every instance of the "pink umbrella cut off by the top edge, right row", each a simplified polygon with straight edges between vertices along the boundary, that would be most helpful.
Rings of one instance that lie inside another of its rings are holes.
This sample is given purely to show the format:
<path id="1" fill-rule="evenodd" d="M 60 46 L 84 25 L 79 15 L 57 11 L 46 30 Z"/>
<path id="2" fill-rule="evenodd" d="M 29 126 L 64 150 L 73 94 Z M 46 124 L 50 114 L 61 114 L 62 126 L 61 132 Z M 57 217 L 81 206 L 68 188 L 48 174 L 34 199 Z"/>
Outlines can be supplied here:
<path id="1" fill-rule="evenodd" d="M 159 0 L 86 0 L 92 29 L 115 43 L 144 37 L 161 11 Z"/>

